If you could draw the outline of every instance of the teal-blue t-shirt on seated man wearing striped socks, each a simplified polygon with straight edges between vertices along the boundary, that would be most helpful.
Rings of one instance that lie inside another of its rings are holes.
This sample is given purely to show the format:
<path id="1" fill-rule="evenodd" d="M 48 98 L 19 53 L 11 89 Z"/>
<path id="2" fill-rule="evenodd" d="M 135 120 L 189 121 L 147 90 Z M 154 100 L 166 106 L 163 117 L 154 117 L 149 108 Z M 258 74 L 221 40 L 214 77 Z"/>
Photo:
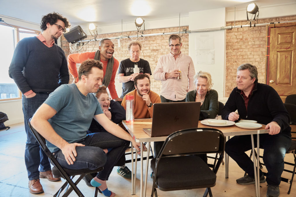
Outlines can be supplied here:
<path id="1" fill-rule="evenodd" d="M 57 111 L 49 123 L 69 143 L 84 139 L 94 115 L 103 113 L 96 97 L 90 93 L 83 95 L 75 84 L 61 85 L 44 103 Z M 51 152 L 59 150 L 49 141 L 46 144 Z"/>

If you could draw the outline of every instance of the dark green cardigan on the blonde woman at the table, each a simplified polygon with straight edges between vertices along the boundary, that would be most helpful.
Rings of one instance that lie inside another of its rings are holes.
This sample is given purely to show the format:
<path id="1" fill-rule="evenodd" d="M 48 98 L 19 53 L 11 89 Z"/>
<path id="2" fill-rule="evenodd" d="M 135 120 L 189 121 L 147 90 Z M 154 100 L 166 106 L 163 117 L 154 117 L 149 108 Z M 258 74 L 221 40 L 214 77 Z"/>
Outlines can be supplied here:
<path id="1" fill-rule="evenodd" d="M 195 102 L 196 90 L 192 90 L 186 95 L 186 102 Z M 218 114 L 218 92 L 211 89 L 205 95 L 205 100 L 200 106 L 200 120 L 205 118 L 216 118 Z"/>

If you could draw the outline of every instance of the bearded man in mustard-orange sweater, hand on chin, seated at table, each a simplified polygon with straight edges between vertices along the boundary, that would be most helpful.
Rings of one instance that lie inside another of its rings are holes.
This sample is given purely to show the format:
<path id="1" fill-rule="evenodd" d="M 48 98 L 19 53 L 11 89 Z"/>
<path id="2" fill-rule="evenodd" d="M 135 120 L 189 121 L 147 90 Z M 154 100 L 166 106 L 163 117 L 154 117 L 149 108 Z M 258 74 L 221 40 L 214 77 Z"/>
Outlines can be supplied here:
<path id="1" fill-rule="evenodd" d="M 138 74 L 133 80 L 135 88 L 126 95 L 134 96 L 134 117 L 136 119 L 152 118 L 153 103 L 160 102 L 156 92 L 150 91 L 150 79 L 146 74 Z M 123 97 L 121 105 L 126 110 L 126 96 Z"/>

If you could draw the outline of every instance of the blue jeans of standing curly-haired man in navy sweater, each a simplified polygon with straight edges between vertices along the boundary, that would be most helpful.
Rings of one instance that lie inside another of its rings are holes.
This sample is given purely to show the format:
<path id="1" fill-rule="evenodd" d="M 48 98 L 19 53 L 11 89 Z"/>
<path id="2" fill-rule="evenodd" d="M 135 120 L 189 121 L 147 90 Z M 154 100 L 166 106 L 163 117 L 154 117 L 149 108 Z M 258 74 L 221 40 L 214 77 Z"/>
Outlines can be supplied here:
<path id="1" fill-rule="evenodd" d="M 49 159 L 39 146 L 28 124 L 29 119 L 32 118 L 33 114 L 46 100 L 48 95 L 47 93 L 37 93 L 32 98 L 26 98 L 22 95 L 22 111 L 24 113 L 25 131 L 27 134 L 25 164 L 29 180 L 39 179 L 39 171 L 46 172 L 51 170 Z M 38 170 L 39 166 L 40 169 Z"/>

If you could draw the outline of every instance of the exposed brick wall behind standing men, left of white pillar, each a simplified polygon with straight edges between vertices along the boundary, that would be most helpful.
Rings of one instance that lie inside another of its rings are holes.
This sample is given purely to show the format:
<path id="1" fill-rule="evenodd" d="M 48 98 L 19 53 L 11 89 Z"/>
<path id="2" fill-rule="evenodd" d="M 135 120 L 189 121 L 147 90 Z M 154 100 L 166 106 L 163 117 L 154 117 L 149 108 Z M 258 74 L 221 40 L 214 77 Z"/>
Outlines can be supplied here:
<path id="1" fill-rule="evenodd" d="M 181 27 L 181 30 L 183 28 L 189 29 L 188 26 Z M 153 34 L 153 33 L 162 33 L 162 32 L 178 32 L 179 27 L 171 27 L 171 28 L 162 28 L 162 29 L 152 29 L 152 30 L 145 30 L 145 34 Z M 122 35 L 121 32 L 119 33 L 110 33 L 110 34 L 100 34 L 97 36 L 97 38 L 112 38 Z M 136 35 L 136 31 L 131 32 L 123 32 L 123 35 Z M 188 55 L 188 34 L 182 34 L 182 53 Z M 169 53 L 169 47 L 168 47 L 168 38 L 170 35 L 161 35 L 161 36 L 152 36 L 152 37 L 139 37 L 139 41 L 141 41 L 142 44 L 142 50 L 141 50 L 141 58 L 145 59 L 149 62 L 152 73 L 155 70 L 155 66 L 157 64 L 157 61 L 160 56 L 165 55 Z M 70 48 L 69 44 L 66 39 L 62 36 L 62 48 L 65 51 L 65 55 L 68 56 L 70 54 Z M 86 39 L 93 39 L 93 37 L 89 36 Z M 136 38 L 132 38 L 136 39 Z M 131 42 L 131 39 L 129 38 L 121 38 L 120 39 L 120 47 L 118 47 L 118 40 L 114 39 L 112 40 L 115 45 L 115 53 L 114 57 L 120 62 L 126 58 L 129 58 L 129 52 L 127 50 L 128 43 Z M 74 52 L 74 53 L 82 53 L 82 52 L 91 52 L 96 51 L 99 49 L 99 42 L 89 42 L 85 47 L 83 47 L 80 52 Z M 79 68 L 79 65 L 77 66 Z M 153 76 L 151 76 L 151 90 L 154 92 L 157 92 L 160 94 L 161 89 L 161 82 L 156 81 L 153 79 Z M 70 83 L 72 83 L 73 78 L 70 75 Z M 116 76 L 115 81 L 118 81 L 118 76 Z"/>

